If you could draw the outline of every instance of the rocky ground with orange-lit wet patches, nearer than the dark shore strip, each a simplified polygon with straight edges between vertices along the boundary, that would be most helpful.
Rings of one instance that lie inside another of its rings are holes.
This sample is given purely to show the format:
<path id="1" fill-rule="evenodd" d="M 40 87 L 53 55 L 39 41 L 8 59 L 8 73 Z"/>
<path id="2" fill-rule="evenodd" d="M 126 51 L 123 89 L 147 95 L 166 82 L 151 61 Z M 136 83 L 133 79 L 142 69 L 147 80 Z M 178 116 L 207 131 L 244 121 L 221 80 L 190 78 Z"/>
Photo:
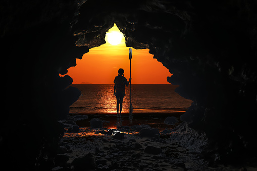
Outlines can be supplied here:
<path id="1" fill-rule="evenodd" d="M 81 119 L 83 117 L 78 117 L 75 121 Z M 71 121 L 66 123 L 66 133 L 60 142 L 62 152 L 56 159 L 59 166 L 52 170 L 255 169 L 250 166 L 210 166 L 198 153 L 174 141 L 170 129 L 159 132 L 149 125 L 134 125 L 117 129 L 80 127 L 76 130 L 77 126 Z"/>

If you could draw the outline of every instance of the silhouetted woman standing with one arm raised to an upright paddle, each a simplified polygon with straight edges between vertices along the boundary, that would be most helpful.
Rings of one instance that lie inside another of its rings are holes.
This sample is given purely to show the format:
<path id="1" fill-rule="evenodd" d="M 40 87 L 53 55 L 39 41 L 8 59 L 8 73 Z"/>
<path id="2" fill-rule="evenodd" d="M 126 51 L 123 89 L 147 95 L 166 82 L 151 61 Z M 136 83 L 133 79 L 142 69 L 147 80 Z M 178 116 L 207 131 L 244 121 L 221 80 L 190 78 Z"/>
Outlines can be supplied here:
<path id="1" fill-rule="evenodd" d="M 122 110 L 122 102 L 125 96 L 125 85 L 128 86 L 131 80 L 131 77 L 129 78 L 129 81 L 124 77 L 124 70 L 122 68 L 118 70 L 118 73 L 119 75 L 114 79 L 114 93 L 113 93 L 113 95 L 115 95 L 117 98 L 117 114 L 119 114 L 119 105 L 120 105 L 120 113 Z"/>

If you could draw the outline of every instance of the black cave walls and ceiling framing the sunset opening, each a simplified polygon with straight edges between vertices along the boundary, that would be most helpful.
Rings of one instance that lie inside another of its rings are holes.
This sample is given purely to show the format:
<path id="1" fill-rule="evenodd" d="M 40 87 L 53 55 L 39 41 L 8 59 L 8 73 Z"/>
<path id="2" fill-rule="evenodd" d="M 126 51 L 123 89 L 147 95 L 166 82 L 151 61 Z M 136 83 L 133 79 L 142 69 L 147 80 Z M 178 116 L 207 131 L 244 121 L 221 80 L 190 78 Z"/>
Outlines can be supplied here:
<path id="1" fill-rule="evenodd" d="M 10 169 L 44 170 L 80 91 L 64 75 L 116 23 L 126 46 L 149 53 L 193 101 L 177 130 L 204 134 L 211 163 L 256 159 L 255 1 L 1 1 L 5 68 L 0 149 Z"/>

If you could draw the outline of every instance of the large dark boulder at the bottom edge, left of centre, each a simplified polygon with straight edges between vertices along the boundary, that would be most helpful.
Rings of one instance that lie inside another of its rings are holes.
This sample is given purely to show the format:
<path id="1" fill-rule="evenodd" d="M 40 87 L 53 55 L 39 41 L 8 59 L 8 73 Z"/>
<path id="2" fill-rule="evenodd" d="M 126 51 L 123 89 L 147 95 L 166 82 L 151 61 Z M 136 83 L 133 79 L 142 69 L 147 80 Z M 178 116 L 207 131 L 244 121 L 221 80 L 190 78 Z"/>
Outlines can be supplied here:
<path id="1" fill-rule="evenodd" d="M 74 166 L 74 171 L 82 171 L 96 168 L 95 160 L 91 153 L 88 153 L 81 158 L 75 158 L 71 164 Z"/>

